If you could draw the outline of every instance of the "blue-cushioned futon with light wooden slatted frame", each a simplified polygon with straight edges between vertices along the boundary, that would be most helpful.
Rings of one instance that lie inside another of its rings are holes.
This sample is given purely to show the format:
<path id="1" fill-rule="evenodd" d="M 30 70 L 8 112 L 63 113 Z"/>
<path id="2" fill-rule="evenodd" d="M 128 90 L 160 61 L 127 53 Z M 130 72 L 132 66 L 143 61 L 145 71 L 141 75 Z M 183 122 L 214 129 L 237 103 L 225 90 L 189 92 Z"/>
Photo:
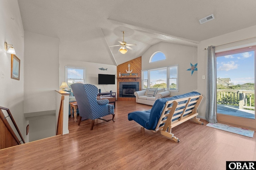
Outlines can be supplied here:
<path id="1" fill-rule="evenodd" d="M 190 92 L 170 98 L 156 100 L 152 109 L 146 111 L 134 111 L 128 114 L 128 120 L 134 120 L 142 127 L 161 134 L 179 142 L 172 133 L 172 128 L 191 120 L 203 125 L 198 115 L 198 107 L 203 96 L 198 92 Z"/>

